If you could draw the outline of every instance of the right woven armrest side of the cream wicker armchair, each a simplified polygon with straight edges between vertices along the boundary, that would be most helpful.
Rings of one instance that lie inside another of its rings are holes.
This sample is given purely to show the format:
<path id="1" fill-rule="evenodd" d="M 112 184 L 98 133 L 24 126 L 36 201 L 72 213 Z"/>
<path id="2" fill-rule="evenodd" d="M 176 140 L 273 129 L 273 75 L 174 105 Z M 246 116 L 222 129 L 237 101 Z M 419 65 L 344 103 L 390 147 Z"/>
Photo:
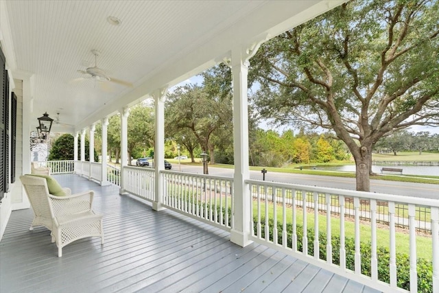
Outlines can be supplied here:
<path id="1" fill-rule="evenodd" d="M 94 191 L 91 190 L 70 196 L 52 196 L 49 194 L 52 216 L 59 217 L 92 211 L 94 194 Z"/>

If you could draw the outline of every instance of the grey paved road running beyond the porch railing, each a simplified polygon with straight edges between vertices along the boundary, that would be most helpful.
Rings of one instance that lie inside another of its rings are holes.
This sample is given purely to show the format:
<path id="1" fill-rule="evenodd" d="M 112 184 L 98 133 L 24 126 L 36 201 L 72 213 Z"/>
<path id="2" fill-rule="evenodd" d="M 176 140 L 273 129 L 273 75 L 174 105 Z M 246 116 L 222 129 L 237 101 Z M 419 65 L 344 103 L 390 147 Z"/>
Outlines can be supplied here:
<path id="1" fill-rule="evenodd" d="M 178 164 L 173 163 L 172 170 L 178 171 Z M 202 166 L 181 165 L 181 171 L 202 174 Z M 209 174 L 232 177 L 233 169 L 209 166 Z M 262 180 L 262 174 L 260 171 L 250 171 L 250 178 Z M 267 172 L 265 180 L 355 190 L 355 178 Z M 382 194 L 414 196 L 416 198 L 439 199 L 439 185 L 434 184 L 370 180 L 370 191 Z"/>

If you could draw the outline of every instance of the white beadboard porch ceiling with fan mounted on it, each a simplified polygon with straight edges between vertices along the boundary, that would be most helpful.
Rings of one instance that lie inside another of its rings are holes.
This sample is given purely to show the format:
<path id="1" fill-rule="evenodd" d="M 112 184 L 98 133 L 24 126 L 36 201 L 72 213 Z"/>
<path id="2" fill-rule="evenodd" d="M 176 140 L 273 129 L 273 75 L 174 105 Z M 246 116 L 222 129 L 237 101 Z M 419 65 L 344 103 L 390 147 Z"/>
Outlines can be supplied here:
<path id="1" fill-rule="evenodd" d="M 273 37 L 343 2 L 0 1 L 8 67 L 16 76 L 34 75 L 32 129 L 43 113 L 55 118 L 59 112 L 75 130 L 199 73 L 231 48 Z M 121 25 L 110 25 L 108 16 Z M 101 53 L 97 67 L 134 87 L 78 81 L 84 76 L 78 70 L 95 64 L 92 49 Z"/>

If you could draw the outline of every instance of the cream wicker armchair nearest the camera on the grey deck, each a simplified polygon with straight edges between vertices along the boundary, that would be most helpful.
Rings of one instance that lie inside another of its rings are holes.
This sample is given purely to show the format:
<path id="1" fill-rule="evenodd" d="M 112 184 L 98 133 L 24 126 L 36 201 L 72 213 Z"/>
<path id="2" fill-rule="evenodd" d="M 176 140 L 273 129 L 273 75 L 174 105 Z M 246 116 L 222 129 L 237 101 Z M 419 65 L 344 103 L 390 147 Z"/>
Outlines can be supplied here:
<path id="1" fill-rule="evenodd" d="M 53 196 L 45 178 L 24 175 L 20 179 L 34 209 L 30 230 L 40 225 L 48 228 L 51 242 L 58 246 L 58 257 L 62 257 L 64 246 L 85 237 L 101 237 L 104 244 L 102 215 L 92 209 L 93 191 L 71 195 L 70 189 L 64 188 L 66 196 Z"/>

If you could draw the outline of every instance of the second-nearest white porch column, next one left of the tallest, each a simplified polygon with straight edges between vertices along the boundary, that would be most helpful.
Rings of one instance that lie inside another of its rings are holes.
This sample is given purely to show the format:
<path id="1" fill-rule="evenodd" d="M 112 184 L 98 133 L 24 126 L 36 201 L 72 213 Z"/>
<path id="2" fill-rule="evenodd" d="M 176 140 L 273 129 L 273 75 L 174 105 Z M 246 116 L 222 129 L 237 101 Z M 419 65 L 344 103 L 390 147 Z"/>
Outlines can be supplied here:
<path id="1" fill-rule="evenodd" d="M 167 89 L 159 89 L 154 91 L 154 108 L 156 128 L 156 145 L 154 145 L 154 180 L 155 180 L 155 194 L 154 202 L 152 202 L 152 209 L 160 211 L 163 209 L 163 178 L 161 171 L 165 169 L 165 98 Z"/>

